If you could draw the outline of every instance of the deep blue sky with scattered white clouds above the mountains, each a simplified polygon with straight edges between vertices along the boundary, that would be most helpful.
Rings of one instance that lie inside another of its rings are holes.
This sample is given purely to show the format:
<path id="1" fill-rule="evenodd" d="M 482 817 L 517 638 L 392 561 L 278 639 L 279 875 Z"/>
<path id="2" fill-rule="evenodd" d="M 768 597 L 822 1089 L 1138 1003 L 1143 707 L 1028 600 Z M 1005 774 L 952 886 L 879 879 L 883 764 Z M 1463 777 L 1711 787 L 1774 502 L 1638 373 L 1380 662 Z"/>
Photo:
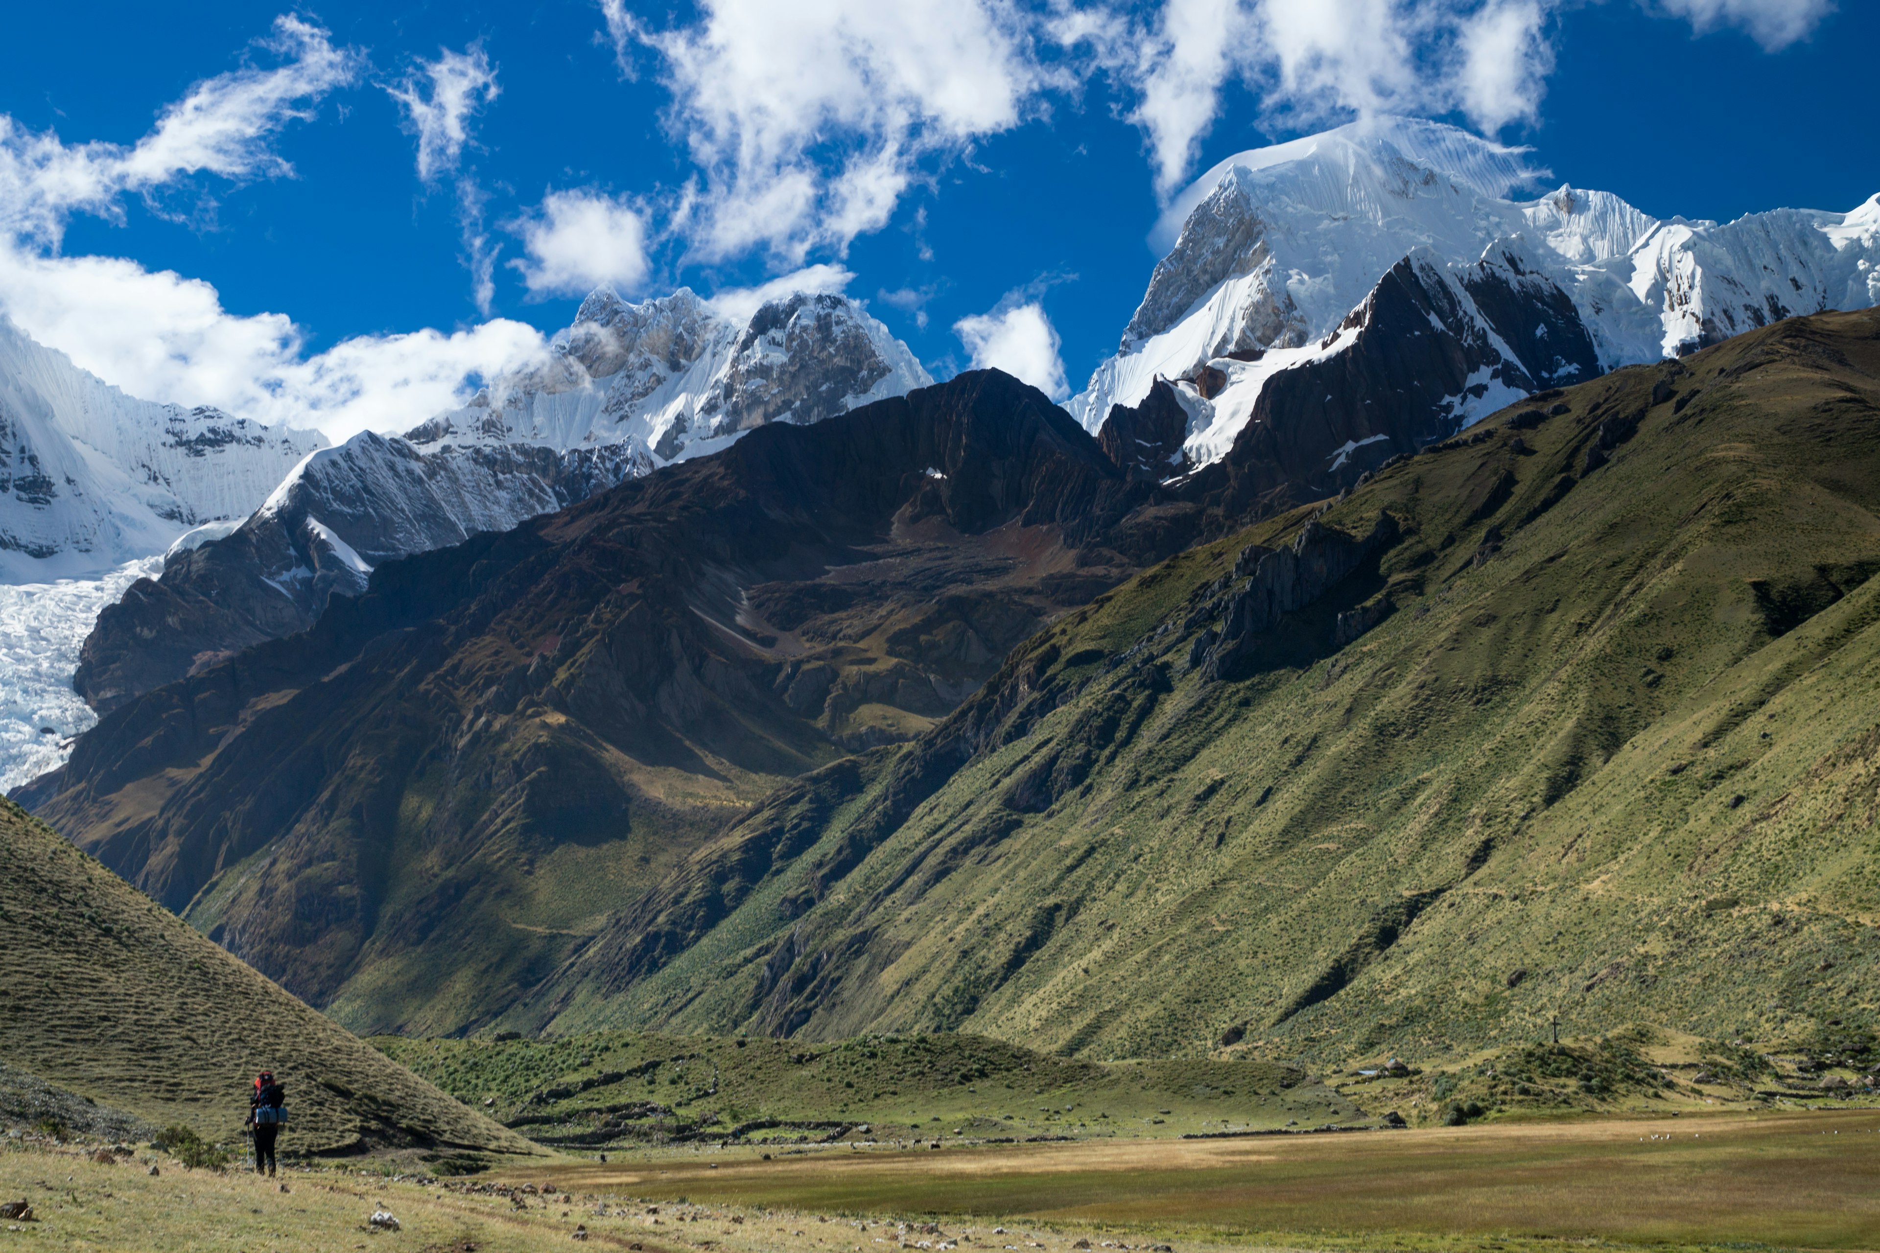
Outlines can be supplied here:
<path id="1" fill-rule="evenodd" d="M 1036 306 L 1075 391 L 1162 197 L 1365 109 L 1532 145 L 1658 216 L 1880 192 L 1880 6 L 1852 0 L 171 13 L 0 15 L 0 308 L 128 391 L 331 434 L 421 421 L 603 278 L 820 267 L 936 376 L 972 363 L 961 319 Z"/>

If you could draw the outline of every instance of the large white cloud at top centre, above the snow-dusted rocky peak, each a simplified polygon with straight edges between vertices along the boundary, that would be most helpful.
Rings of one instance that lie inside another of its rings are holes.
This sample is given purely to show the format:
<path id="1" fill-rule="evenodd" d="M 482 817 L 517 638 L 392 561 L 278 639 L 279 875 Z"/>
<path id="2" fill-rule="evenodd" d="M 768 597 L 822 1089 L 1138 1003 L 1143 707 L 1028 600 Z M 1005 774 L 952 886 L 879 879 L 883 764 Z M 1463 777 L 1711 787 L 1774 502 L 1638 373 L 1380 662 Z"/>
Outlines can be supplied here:
<path id="1" fill-rule="evenodd" d="M 671 130 L 703 184 L 682 222 L 699 259 L 801 263 L 880 229 L 923 162 L 1015 126 L 1051 79 L 1010 0 L 703 0 L 656 32 L 603 0 L 628 68 L 658 53 Z"/>

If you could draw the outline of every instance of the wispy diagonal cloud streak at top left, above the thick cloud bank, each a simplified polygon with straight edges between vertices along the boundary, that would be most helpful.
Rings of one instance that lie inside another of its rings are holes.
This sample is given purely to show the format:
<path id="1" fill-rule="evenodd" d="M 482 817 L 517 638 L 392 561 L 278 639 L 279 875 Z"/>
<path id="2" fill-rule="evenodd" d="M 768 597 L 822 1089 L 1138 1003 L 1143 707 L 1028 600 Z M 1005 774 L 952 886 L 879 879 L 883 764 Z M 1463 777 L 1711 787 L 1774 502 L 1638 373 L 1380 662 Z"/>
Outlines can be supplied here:
<path id="1" fill-rule="evenodd" d="M 290 175 L 269 139 L 288 122 L 310 116 L 308 105 L 323 94 L 350 83 L 359 58 L 333 47 L 325 30 L 299 17 L 276 17 L 273 36 L 259 47 L 284 58 L 282 64 L 197 83 L 133 147 L 103 141 L 71 147 L 53 131 L 34 133 L 0 115 L 0 231 L 30 246 L 56 248 L 73 212 L 120 220 L 124 193 L 149 197 L 196 173 Z"/>

